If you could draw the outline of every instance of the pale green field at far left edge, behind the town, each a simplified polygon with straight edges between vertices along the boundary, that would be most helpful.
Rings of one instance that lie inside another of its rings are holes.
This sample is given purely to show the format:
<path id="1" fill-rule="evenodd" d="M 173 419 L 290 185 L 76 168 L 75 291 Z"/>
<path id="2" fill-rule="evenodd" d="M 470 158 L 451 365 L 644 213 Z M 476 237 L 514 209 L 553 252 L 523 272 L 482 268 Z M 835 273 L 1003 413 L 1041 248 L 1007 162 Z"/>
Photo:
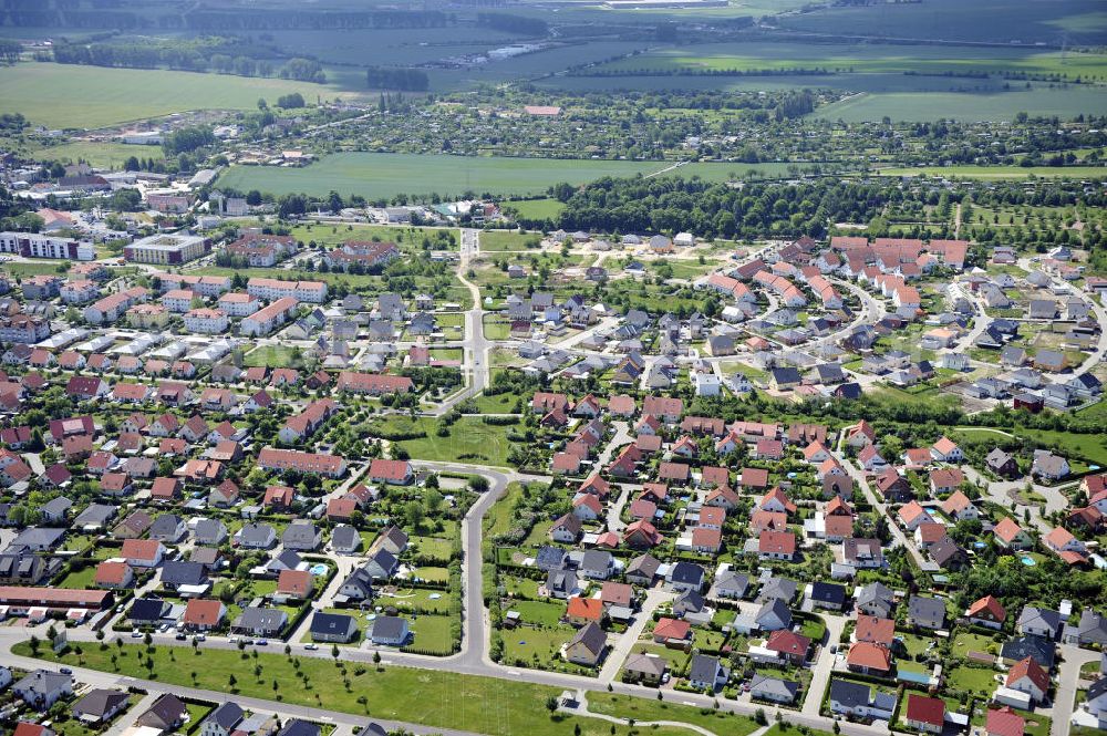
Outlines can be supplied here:
<path id="1" fill-rule="evenodd" d="M 28 62 L 0 69 L 4 112 L 56 128 L 96 128 L 189 110 L 254 110 L 259 97 L 340 96 L 308 82 Z M 349 96 L 349 95 L 348 95 Z"/>

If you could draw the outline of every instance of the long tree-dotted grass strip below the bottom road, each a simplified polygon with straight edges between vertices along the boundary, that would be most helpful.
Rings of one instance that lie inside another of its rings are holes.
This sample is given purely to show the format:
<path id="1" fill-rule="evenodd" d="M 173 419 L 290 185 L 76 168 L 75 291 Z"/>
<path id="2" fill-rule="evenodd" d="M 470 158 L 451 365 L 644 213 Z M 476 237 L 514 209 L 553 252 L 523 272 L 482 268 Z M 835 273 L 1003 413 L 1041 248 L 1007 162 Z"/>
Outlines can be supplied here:
<path id="1" fill-rule="evenodd" d="M 30 646 L 18 644 L 19 654 L 29 656 Z M 257 660 L 244 661 L 235 651 L 201 649 L 200 654 L 192 653 L 185 646 L 158 646 L 149 655 L 154 661 L 153 675 L 138 663 L 139 652 L 145 652 L 142 645 L 124 644 L 122 651 L 115 646 L 101 652 L 99 647 L 90 646 L 79 657 L 69 652 L 56 656 L 41 650 L 41 659 L 75 666 L 86 666 L 104 672 L 117 672 L 124 676 L 151 678 L 156 676 L 167 685 L 195 686 L 224 693 L 240 694 L 247 697 L 271 698 L 273 680 L 288 683 L 290 686 L 281 691 L 283 702 L 292 705 L 320 707 L 355 715 L 371 715 L 379 718 L 407 721 L 430 727 L 458 728 L 488 736 L 563 736 L 573 732 L 573 726 L 580 724 L 584 736 L 606 736 L 610 734 L 609 724 L 593 718 L 562 717 L 554 721 L 545 715 L 546 698 L 558 696 L 559 687 L 531 685 L 528 683 L 498 680 L 493 677 L 476 677 L 458 675 L 434 670 L 414 670 L 401 666 L 385 666 L 382 672 L 366 667 L 362 674 L 356 674 L 348 667 L 349 690 L 341 686 L 341 671 L 323 657 L 293 657 L 300 664 L 299 672 L 306 680 L 300 680 L 297 670 L 282 654 L 259 654 Z M 170 652 L 174 660 L 169 659 Z M 117 665 L 112 664 L 111 656 L 118 653 Z M 262 667 L 261 683 L 250 676 L 254 663 Z M 235 674 L 238 683 L 234 690 L 228 687 L 228 677 Z M 195 674 L 195 680 L 194 680 Z M 364 696 L 366 704 L 358 703 Z M 591 697 L 591 696 L 590 696 Z M 601 703 L 606 696 L 601 698 Z M 631 715 L 627 704 L 631 698 L 620 698 L 610 707 L 613 715 Z M 641 701 L 639 707 L 652 707 L 650 701 Z M 607 706 L 601 706 L 607 707 Z M 680 709 L 677 706 L 668 711 L 668 717 L 675 721 L 689 721 L 695 717 L 701 723 L 704 716 L 693 708 Z M 710 716 L 713 723 L 717 716 Z M 754 729 L 752 719 L 734 716 L 733 723 L 741 730 L 733 730 L 738 736 L 745 736 Z M 706 722 L 702 722 L 706 723 Z M 748 726 L 744 725 L 748 723 Z M 628 728 L 617 728 L 617 736 L 628 736 Z M 656 733 L 656 732 L 655 732 Z M 686 734 L 683 730 L 671 730 L 670 734 Z"/>

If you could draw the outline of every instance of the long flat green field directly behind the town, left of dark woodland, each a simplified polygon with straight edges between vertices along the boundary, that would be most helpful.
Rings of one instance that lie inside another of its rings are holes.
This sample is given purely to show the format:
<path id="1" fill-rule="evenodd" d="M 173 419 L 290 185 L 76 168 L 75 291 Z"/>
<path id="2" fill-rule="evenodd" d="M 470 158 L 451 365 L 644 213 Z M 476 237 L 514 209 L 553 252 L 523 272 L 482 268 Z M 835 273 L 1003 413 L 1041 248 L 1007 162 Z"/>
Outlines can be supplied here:
<path id="1" fill-rule="evenodd" d="M 401 193 L 528 195 L 544 193 L 560 182 L 584 184 L 603 176 L 652 174 L 668 166 L 671 164 L 642 160 L 340 153 L 324 156 L 303 168 L 232 166 L 219 177 L 219 186 L 241 191 L 258 189 L 275 195 L 304 193 L 325 196 L 333 189 L 342 195 L 358 194 L 370 200 L 390 199 Z M 765 165 L 692 164 L 676 172 L 682 176 L 699 175 L 712 180 L 726 180 L 748 168 L 764 169 Z"/>

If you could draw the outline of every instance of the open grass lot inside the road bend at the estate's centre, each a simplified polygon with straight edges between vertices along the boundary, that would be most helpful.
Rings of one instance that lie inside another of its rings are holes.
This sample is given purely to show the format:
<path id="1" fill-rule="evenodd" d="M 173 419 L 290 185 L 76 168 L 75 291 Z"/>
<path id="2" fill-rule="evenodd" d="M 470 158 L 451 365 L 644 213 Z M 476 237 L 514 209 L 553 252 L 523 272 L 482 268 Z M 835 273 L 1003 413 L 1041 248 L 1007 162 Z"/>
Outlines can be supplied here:
<path id="1" fill-rule="evenodd" d="M 480 417 L 463 416 L 449 427 L 446 437 L 436 434 L 437 422 L 428 417 L 412 419 L 393 415 L 380 419 L 375 426 L 385 425 L 390 432 L 425 432 L 425 437 L 403 439 L 397 444 L 413 458 L 444 463 L 466 460 L 476 465 L 507 465 L 511 427 L 485 424 Z"/>

